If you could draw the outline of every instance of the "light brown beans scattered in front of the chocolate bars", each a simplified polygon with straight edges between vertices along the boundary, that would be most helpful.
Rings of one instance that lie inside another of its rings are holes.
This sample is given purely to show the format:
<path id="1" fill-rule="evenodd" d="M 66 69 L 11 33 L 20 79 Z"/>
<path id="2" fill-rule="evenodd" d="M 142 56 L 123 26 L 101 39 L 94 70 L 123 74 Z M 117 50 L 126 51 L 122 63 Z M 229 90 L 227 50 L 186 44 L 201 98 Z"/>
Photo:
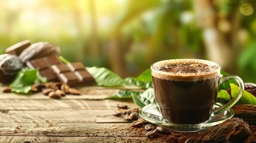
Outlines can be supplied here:
<path id="1" fill-rule="evenodd" d="M 54 99 L 59 99 L 67 94 L 81 95 L 81 92 L 77 89 L 70 88 L 69 85 L 61 82 L 36 83 L 32 85 L 31 91 L 33 93 L 42 92 L 42 94 Z M 11 92 L 11 87 L 5 87 L 2 92 Z"/>

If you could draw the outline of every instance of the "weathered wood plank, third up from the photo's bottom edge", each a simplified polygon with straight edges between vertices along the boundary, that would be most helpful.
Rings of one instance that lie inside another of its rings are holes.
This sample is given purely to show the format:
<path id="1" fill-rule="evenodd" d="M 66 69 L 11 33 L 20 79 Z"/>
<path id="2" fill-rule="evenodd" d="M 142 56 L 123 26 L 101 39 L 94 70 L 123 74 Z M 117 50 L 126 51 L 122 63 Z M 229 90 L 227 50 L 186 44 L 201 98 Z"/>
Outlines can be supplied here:
<path id="1" fill-rule="evenodd" d="M 112 110 L 7 111 L 1 123 L 126 123 L 124 116 L 112 116 Z"/>

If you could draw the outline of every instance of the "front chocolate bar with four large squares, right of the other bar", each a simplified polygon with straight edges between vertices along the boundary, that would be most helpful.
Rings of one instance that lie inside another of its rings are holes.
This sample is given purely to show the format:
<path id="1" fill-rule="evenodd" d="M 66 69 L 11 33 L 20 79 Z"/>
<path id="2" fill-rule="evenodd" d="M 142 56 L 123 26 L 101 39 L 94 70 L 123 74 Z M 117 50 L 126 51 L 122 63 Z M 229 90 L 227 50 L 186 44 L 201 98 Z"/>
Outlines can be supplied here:
<path id="1" fill-rule="evenodd" d="M 51 69 L 61 82 L 69 86 L 92 85 L 95 82 L 82 63 L 55 64 Z"/>

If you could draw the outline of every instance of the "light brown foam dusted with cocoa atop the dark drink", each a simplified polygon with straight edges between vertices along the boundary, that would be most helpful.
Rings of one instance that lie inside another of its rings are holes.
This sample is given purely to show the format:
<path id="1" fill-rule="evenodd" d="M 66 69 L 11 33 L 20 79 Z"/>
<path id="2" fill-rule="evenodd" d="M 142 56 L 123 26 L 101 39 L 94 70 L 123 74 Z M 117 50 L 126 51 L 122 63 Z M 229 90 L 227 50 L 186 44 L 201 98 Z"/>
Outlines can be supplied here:
<path id="1" fill-rule="evenodd" d="M 220 66 L 200 59 L 159 61 L 152 65 L 152 76 L 175 81 L 205 80 L 220 74 Z"/>

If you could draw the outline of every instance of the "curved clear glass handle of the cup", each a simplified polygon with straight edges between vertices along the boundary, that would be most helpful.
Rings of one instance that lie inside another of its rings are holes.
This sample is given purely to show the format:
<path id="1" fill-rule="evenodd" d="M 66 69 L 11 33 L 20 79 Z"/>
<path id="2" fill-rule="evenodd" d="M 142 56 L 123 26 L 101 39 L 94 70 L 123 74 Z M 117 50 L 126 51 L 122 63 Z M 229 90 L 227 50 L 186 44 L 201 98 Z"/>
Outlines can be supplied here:
<path id="1" fill-rule="evenodd" d="M 243 90 L 244 90 L 245 87 L 243 85 L 243 80 L 240 77 L 234 76 L 234 75 L 223 76 L 223 77 L 220 78 L 220 84 L 224 83 L 224 82 L 226 82 L 227 80 L 230 80 L 230 79 L 234 79 L 234 80 L 236 80 L 236 82 L 238 82 L 238 86 L 239 86 L 238 94 L 236 94 L 236 96 L 234 98 L 232 98 L 232 100 L 230 100 L 226 104 L 222 105 L 221 107 L 215 108 L 214 109 L 214 114 L 220 114 L 223 111 L 228 110 L 233 105 L 235 105 L 236 102 L 239 101 L 240 97 L 242 97 Z"/>

